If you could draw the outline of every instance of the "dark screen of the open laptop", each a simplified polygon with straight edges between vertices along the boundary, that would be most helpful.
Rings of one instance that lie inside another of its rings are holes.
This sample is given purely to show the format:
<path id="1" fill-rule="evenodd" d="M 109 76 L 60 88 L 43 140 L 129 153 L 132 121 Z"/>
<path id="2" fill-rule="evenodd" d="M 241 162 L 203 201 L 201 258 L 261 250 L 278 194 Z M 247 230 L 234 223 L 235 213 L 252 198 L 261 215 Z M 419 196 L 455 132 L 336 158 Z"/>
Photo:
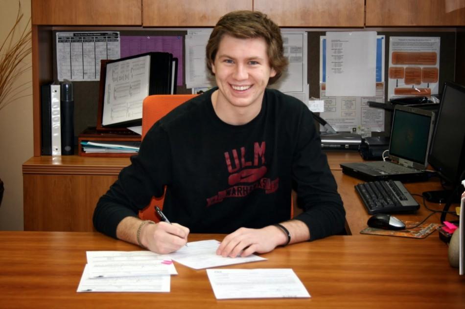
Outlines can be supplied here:
<path id="1" fill-rule="evenodd" d="M 402 165 L 425 169 L 434 112 L 396 106 L 389 146 L 389 156 Z"/>

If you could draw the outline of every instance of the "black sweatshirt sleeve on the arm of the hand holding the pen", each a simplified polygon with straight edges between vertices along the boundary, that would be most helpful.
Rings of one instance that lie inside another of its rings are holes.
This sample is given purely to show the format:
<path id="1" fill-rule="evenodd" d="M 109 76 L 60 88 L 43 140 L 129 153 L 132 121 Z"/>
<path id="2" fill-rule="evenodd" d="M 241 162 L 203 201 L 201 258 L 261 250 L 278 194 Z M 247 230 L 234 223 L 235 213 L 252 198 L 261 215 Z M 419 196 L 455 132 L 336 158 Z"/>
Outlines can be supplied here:
<path id="1" fill-rule="evenodd" d="M 119 173 L 118 179 L 97 202 L 93 212 L 95 229 L 116 238 L 116 227 L 126 217 L 137 217 L 150 199 L 163 195 L 170 182 L 168 134 L 160 123 L 147 132 L 138 155 Z"/>

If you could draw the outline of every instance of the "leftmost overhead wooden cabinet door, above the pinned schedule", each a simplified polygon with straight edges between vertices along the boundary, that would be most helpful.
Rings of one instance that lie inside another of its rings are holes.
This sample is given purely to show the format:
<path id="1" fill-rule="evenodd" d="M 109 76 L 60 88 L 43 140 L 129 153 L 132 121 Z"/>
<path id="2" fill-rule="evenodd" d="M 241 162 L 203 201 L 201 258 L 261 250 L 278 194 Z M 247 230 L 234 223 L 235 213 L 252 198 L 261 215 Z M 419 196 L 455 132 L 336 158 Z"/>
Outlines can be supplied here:
<path id="1" fill-rule="evenodd" d="M 32 23 L 141 25 L 141 0 L 32 0 Z"/>

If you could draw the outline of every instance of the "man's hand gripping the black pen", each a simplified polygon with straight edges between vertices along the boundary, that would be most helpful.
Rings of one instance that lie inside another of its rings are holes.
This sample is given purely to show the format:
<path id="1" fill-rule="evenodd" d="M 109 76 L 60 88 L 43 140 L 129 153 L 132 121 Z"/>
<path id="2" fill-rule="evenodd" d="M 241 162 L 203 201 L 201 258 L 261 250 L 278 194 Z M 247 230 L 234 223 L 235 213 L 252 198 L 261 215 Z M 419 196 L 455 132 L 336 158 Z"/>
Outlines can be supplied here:
<path id="1" fill-rule="evenodd" d="M 187 243 L 189 229 L 178 223 L 145 224 L 140 231 L 140 242 L 150 251 L 167 254 Z"/>

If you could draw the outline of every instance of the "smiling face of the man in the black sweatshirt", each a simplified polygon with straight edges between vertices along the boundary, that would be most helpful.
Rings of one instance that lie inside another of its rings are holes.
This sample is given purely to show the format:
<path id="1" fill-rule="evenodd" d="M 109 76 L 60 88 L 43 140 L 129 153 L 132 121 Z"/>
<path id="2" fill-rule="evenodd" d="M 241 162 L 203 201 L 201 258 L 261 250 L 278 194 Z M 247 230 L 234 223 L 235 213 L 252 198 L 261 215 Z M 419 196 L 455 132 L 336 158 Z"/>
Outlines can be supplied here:
<path id="1" fill-rule="evenodd" d="M 212 71 L 219 88 L 218 104 L 237 108 L 261 106 L 263 93 L 276 71 L 270 67 L 263 38 L 237 39 L 225 35 Z"/>

